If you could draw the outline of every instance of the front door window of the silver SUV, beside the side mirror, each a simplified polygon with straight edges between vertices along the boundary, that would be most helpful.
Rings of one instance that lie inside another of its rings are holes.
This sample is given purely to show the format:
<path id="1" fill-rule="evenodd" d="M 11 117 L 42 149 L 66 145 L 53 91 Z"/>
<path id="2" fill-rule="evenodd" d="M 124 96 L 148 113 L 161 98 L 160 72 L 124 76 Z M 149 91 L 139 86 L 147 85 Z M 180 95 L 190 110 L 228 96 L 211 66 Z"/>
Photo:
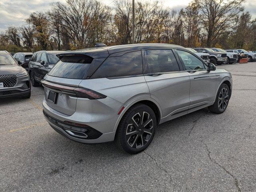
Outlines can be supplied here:
<path id="1" fill-rule="evenodd" d="M 204 63 L 196 56 L 182 50 L 177 50 L 177 53 L 186 66 L 186 70 L 205 70 Z"/>

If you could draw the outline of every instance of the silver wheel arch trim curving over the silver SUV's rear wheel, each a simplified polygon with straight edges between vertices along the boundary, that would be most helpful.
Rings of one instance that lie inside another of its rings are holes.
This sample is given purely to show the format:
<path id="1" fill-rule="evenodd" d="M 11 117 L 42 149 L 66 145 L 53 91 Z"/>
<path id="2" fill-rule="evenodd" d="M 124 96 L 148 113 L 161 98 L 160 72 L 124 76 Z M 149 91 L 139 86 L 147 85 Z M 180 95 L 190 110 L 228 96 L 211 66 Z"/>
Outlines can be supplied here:
<path id="1" fill-rule="evenodd" d="M 126 111 L 138 103 L 145 104 L 145 105 L 149 106 L 154 111 L 154 113 L 156 115 L 157 124 L 159 124 L 160 119 L 162 117 L 162 109 L 161 109 L 160 105 L 158 104 L 158 102 L 156 102 L 156 100 L 154 100 L 152 98 L 142 97 L 142 98 L 138 98 L 138 99 L 130 102 L 127 105 L 124 105 L 125 108 L 119 115 L 118 120 L 116 121 L 116 124 L 114 126 L 114 132 L 117 130 L 119 122 L 121 121 L 121 119 L 124 116 L 124 114 L 126 113 Z"/>

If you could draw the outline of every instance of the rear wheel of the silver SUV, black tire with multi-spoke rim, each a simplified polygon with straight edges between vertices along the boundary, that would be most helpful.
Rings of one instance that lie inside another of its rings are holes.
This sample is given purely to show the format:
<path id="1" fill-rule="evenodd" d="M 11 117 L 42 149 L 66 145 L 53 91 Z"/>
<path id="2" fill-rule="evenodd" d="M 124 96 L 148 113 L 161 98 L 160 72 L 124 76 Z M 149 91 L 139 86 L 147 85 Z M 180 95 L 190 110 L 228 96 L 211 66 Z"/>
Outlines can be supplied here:
<path id="1" fill-rule="evenodd" d="M 147 105 L 135 104 L 122 117 L 116 130 L 115 143 L 123 151 L 137 154 L 152 142 L 156 131 L 156 115 Z"/>

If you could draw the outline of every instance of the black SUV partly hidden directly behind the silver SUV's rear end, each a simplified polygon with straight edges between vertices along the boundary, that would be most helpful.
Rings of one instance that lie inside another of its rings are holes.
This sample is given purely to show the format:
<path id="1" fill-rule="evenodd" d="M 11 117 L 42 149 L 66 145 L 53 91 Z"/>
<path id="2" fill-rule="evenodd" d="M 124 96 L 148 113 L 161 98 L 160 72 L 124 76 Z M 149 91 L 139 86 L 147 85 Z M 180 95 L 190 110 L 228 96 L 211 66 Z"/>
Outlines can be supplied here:
<path id="1" fill-rule="evenodd" d="M 63 51 L 38 51 L 32 56 L 29 62 L 29 74 L 32 86 L 40 85 L 40 81 L 58 62 L 56 54 Z"/>

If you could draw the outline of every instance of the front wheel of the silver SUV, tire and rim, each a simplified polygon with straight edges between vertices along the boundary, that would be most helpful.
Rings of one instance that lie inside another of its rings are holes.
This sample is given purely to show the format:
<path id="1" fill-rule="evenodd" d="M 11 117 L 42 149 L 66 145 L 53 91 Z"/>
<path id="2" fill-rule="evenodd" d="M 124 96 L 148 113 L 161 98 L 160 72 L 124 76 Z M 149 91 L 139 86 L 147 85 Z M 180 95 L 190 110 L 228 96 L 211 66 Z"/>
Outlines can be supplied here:
<path id="1" fill-rule="evenodd" d="M 209 111 L 216 114 L 223 113 L 228 107 L 229 99 L 229 87 L 226 84 L 222 84 L 218 90 L 214 104 L 208 107 Z"/>

